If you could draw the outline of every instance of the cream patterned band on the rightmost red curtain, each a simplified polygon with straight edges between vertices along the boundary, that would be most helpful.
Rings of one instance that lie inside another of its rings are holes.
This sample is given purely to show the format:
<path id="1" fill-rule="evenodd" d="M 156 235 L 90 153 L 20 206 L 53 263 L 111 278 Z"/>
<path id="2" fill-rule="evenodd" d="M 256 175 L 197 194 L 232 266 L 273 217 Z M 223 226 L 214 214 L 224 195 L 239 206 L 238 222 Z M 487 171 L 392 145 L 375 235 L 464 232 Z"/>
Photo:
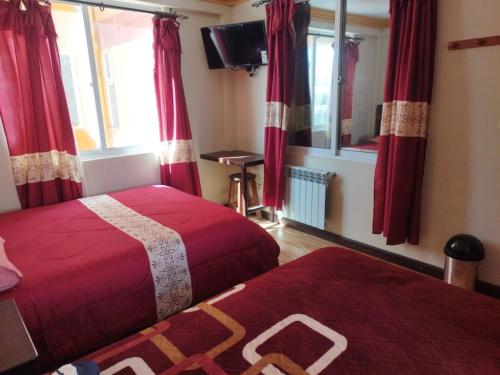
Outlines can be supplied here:
<path id="1" fill-rule="evenodd" d="M 429 103 L 399 100 L 386 102 L 382 109 L 380 135 L 425 138 L 428 124 Z"/>

